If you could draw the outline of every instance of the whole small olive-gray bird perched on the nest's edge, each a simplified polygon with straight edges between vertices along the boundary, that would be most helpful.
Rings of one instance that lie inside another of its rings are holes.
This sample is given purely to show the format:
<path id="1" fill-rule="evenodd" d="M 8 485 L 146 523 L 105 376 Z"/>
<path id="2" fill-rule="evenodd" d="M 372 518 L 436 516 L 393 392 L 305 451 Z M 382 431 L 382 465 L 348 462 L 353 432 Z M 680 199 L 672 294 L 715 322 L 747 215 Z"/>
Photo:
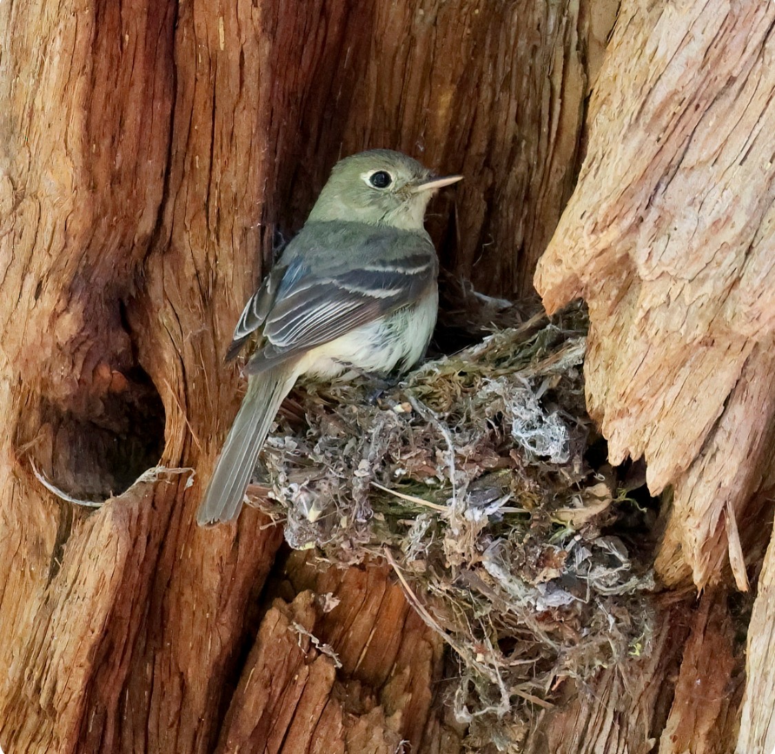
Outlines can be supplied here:
<path id="1" fill-rule="evenodd" d="M 375 149 L 339 161 L 305 226 L 239 317 L 226 360 L 253 333 L 248 386 L 199 507 L 200 525 L 239 514 L 280 404 L 300 375 L 329 380 L 405 372 L 436 325 L 439 262 L 423 227 L 438 177 Z"/>

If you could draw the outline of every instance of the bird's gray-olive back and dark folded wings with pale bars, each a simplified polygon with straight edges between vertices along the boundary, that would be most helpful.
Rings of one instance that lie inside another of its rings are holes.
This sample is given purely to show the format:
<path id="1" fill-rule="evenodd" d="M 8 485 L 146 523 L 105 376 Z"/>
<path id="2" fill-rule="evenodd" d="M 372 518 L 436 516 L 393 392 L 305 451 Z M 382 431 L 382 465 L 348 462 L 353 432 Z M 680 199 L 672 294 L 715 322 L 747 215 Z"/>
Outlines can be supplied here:
<path id="1" fill-rule="evenodd" d="M 436 279 L 436 251 L 425 233 L 325 225 L 335 227 L 302 231 L 298 244 L 291 242 L 277 282 L 263 285 L 246 306 L 235 343 L 263 325 L 263 348 L 246 372 L 263 371 L 415 303 Z"/>

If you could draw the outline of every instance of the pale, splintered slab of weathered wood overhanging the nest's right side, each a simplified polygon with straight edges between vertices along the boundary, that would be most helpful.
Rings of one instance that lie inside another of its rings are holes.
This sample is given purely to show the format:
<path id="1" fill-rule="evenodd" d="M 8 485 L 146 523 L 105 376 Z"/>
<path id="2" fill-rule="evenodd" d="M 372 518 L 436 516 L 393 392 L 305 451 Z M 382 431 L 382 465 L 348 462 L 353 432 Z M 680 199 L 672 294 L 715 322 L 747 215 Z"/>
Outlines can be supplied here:
<path id="1" fill-rule="evenodd" d="M 536 286 L 584 296 L 587 402 L 611 462 L 673 487 L 668 583 L 746 588 L 737 521 L 772 463 L 775 7 L 625 2 L 587 157 Z"/>

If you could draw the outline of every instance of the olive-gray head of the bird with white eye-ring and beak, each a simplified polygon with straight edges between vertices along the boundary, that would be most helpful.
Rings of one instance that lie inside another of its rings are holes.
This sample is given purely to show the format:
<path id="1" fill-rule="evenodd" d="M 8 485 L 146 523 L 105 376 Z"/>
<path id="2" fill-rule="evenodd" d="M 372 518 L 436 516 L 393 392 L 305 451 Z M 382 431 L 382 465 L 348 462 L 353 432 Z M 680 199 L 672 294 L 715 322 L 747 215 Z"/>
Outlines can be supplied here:
<path id="1" fill-rule="evenodd" d="M 433 175 L 401 152 L 360 152 L 336 163 L 309 220 L 350 220 L 421 230 L 432 195 L 461 178 Z"/>

